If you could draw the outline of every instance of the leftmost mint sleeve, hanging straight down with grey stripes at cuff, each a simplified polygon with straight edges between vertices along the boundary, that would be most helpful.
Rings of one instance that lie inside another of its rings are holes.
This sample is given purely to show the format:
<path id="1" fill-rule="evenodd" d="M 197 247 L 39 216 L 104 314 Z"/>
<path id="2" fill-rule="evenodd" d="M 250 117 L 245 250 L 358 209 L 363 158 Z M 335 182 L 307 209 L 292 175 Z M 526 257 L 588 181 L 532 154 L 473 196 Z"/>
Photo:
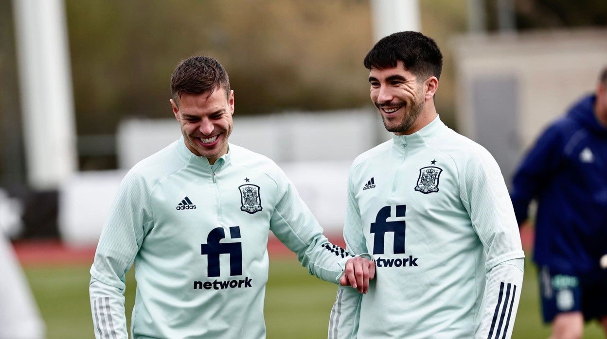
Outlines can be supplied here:
<path id="1" fill-rule="evenodd" d="M 96 338 L 127 339 L 124 315 L 125 274 L 131 267 L 149 222 L 148 193 L 127 175 L 104 224 L 90 269 L 90 306 Z"/>

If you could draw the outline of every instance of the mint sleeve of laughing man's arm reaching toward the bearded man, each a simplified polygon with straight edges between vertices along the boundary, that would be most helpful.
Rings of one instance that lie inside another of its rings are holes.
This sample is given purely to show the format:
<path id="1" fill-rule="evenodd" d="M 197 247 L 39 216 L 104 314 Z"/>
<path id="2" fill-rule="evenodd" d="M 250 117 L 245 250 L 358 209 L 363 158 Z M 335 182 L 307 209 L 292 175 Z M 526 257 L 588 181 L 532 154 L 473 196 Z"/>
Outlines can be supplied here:
<path id="1" fill-rule="evenodd" d="M 271 216 L 270 230 L 297 254 L 297 260 L 310 274 L 334 284 L 339 283 L 351 255 L 331 244 L 322 234 L 322 227 L 286 176 L 283 175 L 277 184 L 278 192 L 284 194 Z"/>

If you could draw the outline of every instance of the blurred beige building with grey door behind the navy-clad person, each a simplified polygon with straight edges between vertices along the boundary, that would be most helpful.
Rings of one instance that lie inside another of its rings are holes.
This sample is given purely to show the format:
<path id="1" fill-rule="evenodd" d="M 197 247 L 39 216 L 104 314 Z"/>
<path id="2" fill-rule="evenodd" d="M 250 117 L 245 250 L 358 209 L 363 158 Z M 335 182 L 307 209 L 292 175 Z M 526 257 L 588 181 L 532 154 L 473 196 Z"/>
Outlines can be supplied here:
<path id="1" fill-rule="evenodd" d="M 541 130 L 595 89 L 607 30 L 459 36 L 453 50 L 459 132 L 493 154 L 509 184 Z"/>

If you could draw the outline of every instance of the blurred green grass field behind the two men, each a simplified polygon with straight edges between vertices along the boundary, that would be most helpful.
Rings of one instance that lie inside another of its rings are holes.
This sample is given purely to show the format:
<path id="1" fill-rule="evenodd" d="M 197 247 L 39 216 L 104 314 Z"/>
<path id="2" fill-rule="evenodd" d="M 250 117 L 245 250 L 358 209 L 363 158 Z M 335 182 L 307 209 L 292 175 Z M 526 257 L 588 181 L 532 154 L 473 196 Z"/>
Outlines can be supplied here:
<path id="1" fill-rule="evenodd" d="M 25 267 L 42 317 L 47 339 L 93 338 L 88 297 L 89 266 Z M 515 339 L 548 338 L 540 323 L 535 267 L 527 261 L 523 294 L 515 323 Z M 134 277 L 127 282 L 127 310 L 134 302 Z M 274 258 L 266 289 L 265 318 L 268 339 L 327 337 L 328 316 L 336 286 L 310 277 L 292 258 Z M 604 338 L 595 323 L 586 326 L 585 339 Z"/>

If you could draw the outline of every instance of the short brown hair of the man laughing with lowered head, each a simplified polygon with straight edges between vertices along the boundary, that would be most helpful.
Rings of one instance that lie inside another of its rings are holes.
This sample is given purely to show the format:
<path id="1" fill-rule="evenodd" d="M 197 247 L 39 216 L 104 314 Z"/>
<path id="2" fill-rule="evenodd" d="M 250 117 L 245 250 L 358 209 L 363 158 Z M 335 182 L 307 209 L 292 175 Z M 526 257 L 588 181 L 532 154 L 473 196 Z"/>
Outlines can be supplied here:
<path id="1" fill-rule="evenodd" d="M 228 72 L 219 61 L 208 56 L 192 56 L 181 61 L 171 75 L 171 96 L 175 103 L 184 93 L 209 95 L 223 88 L 229 97 Z"/>

